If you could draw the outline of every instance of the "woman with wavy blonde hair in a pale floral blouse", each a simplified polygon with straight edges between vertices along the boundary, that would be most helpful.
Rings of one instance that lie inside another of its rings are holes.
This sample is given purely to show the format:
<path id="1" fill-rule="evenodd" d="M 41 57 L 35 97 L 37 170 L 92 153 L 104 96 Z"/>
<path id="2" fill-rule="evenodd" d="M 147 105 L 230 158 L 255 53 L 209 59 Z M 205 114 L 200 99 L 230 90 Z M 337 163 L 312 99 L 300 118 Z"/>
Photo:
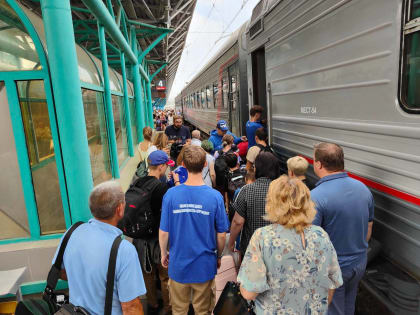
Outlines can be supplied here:
<path id="1" fill-rule="evenodd" d="M 271 182 L 265 209 L 271 224 L 249 242 L 238 275 L 242 296 L 255 300 L 257 314 L 327 314 L 343 280 L 328 234 L 311 224 L 309 189 L 283 175 Z"/>

